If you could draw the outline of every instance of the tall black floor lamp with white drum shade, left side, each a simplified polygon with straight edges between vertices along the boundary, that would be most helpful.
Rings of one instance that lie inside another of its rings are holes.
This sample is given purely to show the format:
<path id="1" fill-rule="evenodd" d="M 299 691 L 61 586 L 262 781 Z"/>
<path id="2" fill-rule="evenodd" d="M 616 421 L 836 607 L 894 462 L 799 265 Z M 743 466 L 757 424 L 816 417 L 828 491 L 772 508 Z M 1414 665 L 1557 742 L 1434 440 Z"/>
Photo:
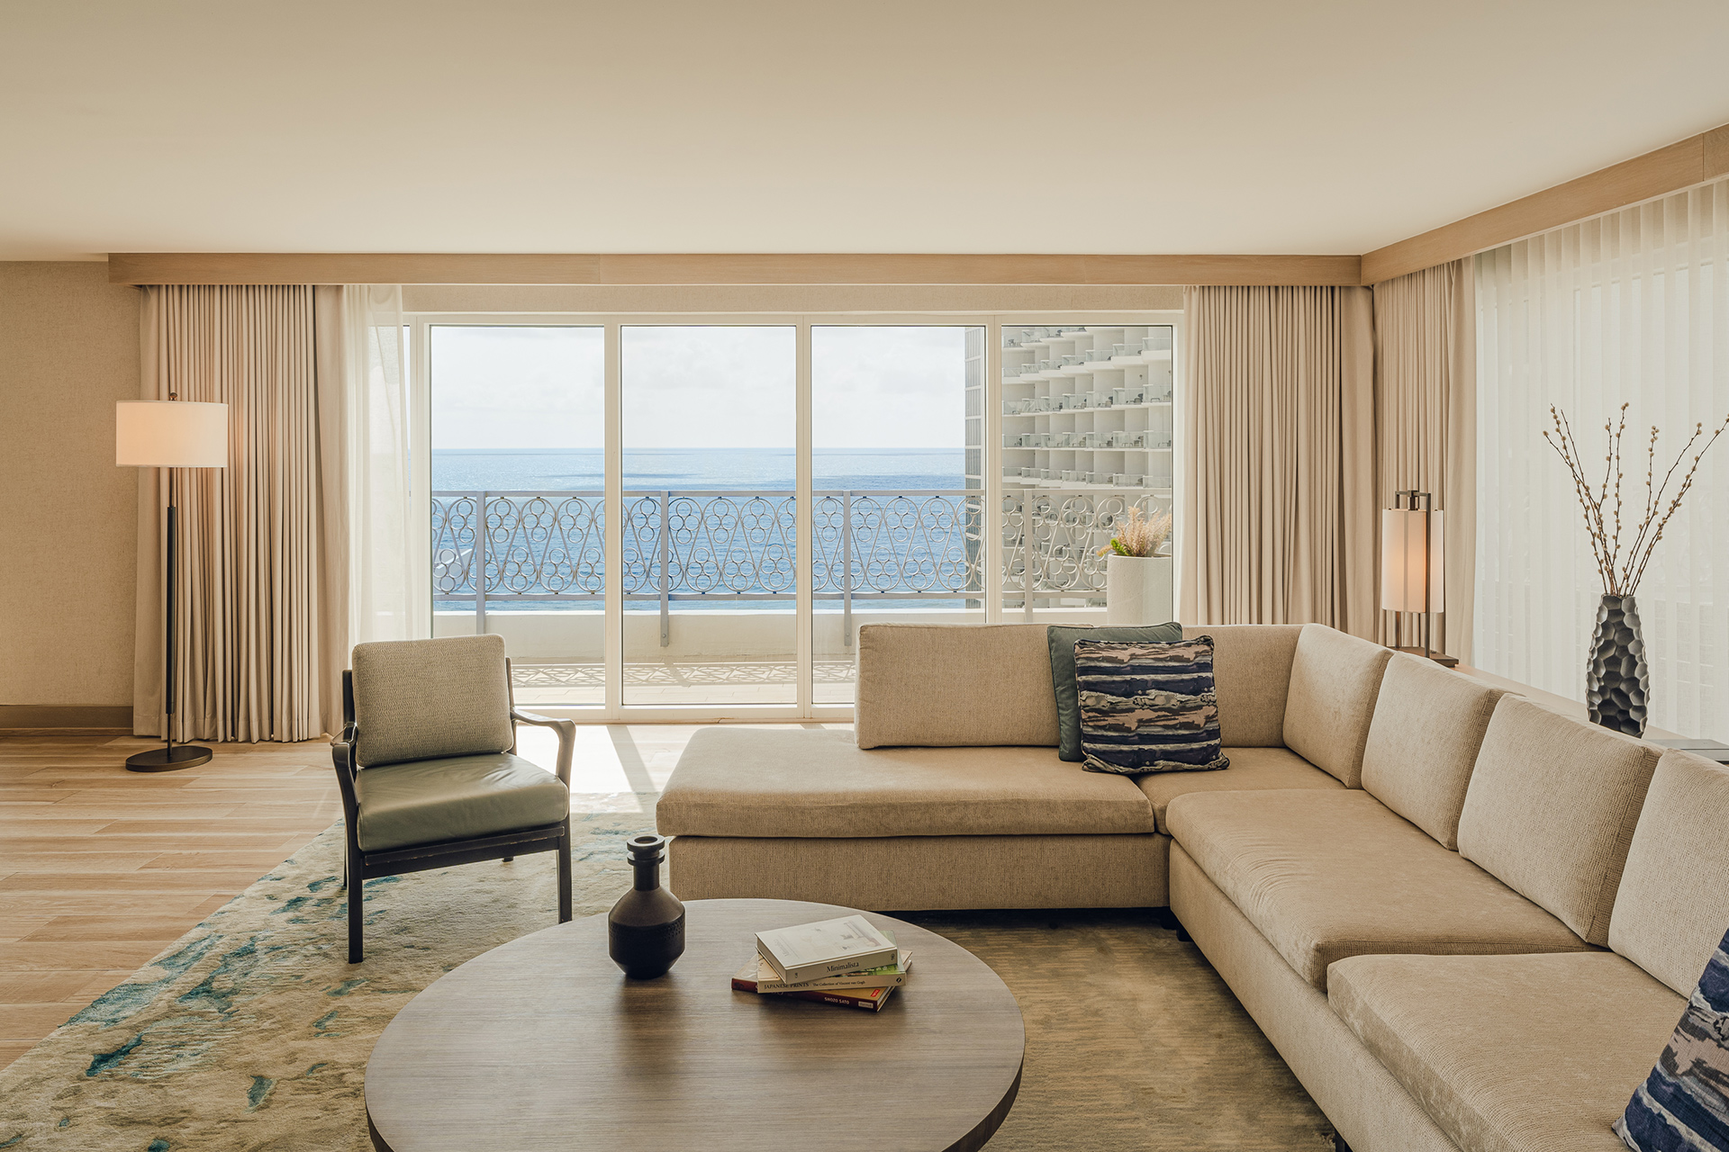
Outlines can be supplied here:
<path id="1" fill-rule="evenodd" d="M 114 406 L 114 463 L 137 468 L 168 468 L 168 572 L 164 599 L 163 715 L 168 743 L 126 758 L 133 772 L 173 772 L 211 758 L 209 748 L 175 746 L 175 551 L 178 510 L 175 468 L 228 466 L 228 406 L 175 399 L 119 401 Z"/>

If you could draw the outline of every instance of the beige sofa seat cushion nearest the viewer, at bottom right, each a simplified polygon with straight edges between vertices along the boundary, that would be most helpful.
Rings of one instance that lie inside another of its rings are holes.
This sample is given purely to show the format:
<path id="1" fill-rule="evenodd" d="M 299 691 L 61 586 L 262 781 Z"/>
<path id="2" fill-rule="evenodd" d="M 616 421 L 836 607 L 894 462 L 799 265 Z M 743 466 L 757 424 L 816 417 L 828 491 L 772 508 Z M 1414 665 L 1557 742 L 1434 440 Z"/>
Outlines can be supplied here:
<path id="1" fill-rule="evenodd" d="M 1686 1000 L 1611 952 L 1352 957 L 1328 1002 L 1461 1149 L 1625 1152 Z"/>

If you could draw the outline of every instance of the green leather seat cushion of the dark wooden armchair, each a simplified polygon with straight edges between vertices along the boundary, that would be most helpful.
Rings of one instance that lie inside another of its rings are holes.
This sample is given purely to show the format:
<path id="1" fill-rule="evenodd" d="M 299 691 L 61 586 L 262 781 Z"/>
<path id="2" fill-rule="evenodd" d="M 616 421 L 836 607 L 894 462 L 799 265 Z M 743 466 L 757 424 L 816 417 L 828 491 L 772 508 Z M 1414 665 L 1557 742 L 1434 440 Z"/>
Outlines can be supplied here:
<path id="1" fill-rule="evenodd" d="M 354 798 L 361 851 L 545 827 L 571 812 L 564 781 L 508 751 L 361 769 Z"/>

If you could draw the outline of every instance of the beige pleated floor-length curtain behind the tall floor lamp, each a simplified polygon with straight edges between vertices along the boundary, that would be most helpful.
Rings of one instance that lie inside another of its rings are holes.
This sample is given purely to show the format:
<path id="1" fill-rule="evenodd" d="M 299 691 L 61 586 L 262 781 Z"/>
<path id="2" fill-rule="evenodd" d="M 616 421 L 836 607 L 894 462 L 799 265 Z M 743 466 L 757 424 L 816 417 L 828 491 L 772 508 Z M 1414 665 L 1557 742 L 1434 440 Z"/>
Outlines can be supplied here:
<path id="1" fill-rule="evenodd" d="M 182 470 L 176 739 L 292 741 L 335 731 L 325 620 L 327 432 L 304 285 L 145 288 L 145 399 L 228 404 L 226 468 Z M 335 382 L 327 382 L 335 387 Z M 142 472 L 133 731 L 161 734 L 163 508 Z M 346 649 L 344 649 L 346 651 Z"/>

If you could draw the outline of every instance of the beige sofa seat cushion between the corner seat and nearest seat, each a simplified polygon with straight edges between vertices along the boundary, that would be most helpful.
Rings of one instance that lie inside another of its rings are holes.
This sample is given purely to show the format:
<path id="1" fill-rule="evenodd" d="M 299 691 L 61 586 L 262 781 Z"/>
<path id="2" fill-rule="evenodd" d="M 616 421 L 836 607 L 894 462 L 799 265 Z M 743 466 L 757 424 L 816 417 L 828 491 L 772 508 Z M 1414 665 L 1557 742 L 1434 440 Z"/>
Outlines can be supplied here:
<path id="1" fill-rule="evenodd" d="M 1171 836 L 1316 988 L 1364 953 L 1573 952 L 1585 945 L 1359 789 L 1190 793 Z"/>

